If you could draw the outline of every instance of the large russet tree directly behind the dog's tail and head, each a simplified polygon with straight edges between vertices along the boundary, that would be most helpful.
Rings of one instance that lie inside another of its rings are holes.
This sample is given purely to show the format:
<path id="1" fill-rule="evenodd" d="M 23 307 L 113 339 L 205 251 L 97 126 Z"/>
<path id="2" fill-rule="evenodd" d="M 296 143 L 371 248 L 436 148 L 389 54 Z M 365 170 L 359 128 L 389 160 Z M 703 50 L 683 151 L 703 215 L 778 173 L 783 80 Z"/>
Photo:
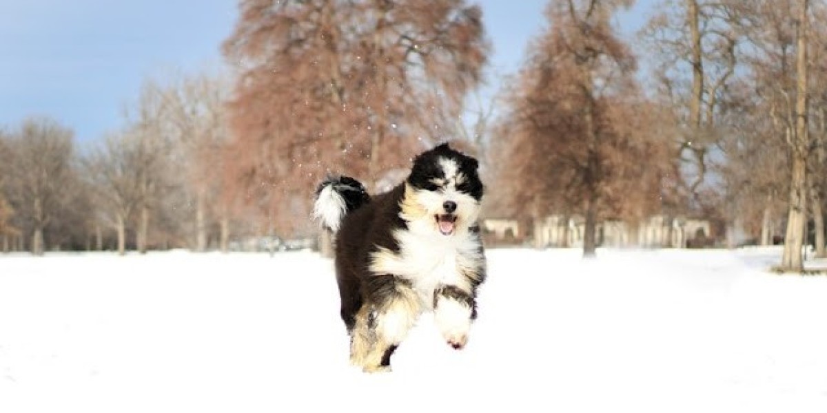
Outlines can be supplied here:
<path id="1" fill-rule="evenodd" d="M 251 203 L 296 230 L 322 174 L 375 187 L 450 134 L 488 49 L 463 0 L 241 2 L 223 51 L 240 71 L 229 151 Z"/>

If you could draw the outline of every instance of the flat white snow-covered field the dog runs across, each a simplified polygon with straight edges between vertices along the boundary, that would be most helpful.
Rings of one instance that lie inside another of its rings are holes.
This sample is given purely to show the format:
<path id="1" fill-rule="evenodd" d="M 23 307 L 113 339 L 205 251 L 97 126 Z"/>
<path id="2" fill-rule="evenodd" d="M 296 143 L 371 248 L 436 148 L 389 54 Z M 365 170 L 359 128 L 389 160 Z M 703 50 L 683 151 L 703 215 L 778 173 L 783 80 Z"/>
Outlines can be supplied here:
<path id="1" fill-rule="evenodd" d="M 466 349 L 347 364 L 310 252 L 0 255 L 0 411 L 827 411 L 827 278 L 779 249 L 493 249 Z"/>

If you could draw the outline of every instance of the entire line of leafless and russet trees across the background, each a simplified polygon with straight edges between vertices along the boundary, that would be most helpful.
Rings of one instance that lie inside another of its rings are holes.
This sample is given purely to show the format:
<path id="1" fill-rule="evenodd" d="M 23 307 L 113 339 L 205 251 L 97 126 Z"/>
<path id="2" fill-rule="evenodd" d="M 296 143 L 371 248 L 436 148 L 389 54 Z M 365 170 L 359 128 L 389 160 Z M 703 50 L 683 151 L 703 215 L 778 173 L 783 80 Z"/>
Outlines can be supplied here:
<path id="1" fill-rule="evenodd" d="M 783 267 L 824 251 L 827 115 L 821 0 L 551 0 L 519 72 L 468 119 L 492 53 L 465 0 L 242 0 L 226 73 L 147 82 L 89 148 L 45 118 L 0 138 L 5 249 L 227 249 L 313 236 L 327 173 L 399 182 L 442 140 L 476 154 L 490 216 L 703 216 Z M 734 237 L 729 238 L 734 243 Z"/>

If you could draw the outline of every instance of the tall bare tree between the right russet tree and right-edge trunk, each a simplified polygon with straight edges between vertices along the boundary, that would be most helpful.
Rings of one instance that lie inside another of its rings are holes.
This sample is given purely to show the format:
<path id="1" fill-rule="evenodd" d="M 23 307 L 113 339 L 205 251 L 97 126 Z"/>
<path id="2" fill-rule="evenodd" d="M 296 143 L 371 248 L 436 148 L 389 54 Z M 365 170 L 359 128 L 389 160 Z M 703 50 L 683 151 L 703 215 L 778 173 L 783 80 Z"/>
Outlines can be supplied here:
<path id="1" fill-rule="evenodd" d="M 657 66 L 657 90 L 674 111 L 676 177 L 696 208 L 709 209 L 700 191 L 710 156 L 723 135 L 719 104 L 739 64 L 739 44 L 751 24 L 740 0 L 665 0 L 642 31 Z"/>

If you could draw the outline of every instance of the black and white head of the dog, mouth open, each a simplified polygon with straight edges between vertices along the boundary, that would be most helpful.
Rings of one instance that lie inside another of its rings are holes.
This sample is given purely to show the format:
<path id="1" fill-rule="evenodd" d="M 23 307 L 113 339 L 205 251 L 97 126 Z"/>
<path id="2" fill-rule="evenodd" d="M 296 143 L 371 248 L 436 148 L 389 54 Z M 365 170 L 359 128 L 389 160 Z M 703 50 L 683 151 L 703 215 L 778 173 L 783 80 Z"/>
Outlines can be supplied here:
<path id="1" fill-rule="evenodd" d="M 475 225 L 483 193 L 478 166 L 447 144 L 419 154 L 405 182 L 403 218 L 445 236 Z"/>

